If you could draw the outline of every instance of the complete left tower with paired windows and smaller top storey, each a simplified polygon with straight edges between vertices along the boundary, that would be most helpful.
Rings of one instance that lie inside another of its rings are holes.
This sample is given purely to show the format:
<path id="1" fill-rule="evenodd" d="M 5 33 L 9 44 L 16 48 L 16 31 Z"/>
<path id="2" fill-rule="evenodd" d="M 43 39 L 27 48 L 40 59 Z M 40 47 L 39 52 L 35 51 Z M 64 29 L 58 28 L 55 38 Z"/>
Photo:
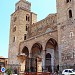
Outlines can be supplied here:
<path id="1" fill-rule="evenodd" d="M 31 3 L 20 0 L 15 5 L 15 12 L 11 14 L 9 38 L 9 64 L 19 64 L 19 44 L 28 38 L 29 29 L 35 23 L 37 15 L 31 12 Z"/>

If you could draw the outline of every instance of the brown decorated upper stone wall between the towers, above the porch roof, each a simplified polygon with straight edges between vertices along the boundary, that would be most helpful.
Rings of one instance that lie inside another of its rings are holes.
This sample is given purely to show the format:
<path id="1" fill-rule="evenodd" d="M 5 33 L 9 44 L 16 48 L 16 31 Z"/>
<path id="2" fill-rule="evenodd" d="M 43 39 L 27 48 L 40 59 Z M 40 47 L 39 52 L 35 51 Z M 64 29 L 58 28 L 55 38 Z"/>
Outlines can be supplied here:
<path id="1" fill-rule="evenodd" d="M 50 14 L 45 19 L 31 25 L 30 37 L 57 30 L 57 16 Z"/>

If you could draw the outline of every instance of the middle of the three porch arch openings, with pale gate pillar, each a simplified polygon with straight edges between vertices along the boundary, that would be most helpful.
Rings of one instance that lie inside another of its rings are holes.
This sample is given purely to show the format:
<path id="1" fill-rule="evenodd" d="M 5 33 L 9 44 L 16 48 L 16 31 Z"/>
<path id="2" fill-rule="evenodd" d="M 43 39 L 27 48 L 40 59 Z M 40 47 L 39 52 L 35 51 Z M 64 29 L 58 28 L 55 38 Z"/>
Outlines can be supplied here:
<path id="1" fill-rule="evenodd" d="M 32 72 L 42 72 L 42 58 L 41 58 L 42 50 L 43 48 L 40 43 L 35 43 L 31 48 L 31 54 L 32 54 L 31 71 Z"/>

